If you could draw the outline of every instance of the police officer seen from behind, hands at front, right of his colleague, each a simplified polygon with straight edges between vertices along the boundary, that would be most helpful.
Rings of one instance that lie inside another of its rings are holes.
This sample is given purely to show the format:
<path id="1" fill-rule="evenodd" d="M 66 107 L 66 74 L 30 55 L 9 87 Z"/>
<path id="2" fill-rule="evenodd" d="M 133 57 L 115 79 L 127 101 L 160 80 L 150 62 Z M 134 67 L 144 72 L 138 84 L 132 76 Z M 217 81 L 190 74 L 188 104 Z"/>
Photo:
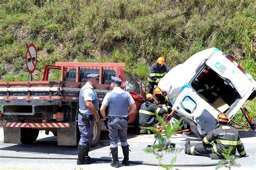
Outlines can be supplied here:
<path id="1" fill-rule="evenodd" d="M 120 88 L 122 80 L 118 77 L 111 77 L 111 87 L 113 90 L 107 93 L 102 101 L 100 113 L 104 120 L 108 118 L 107 126 L 109 127 L 110 150 L 113 161 L 111 166 L 118 168 L 118 137 L 121 141 L 121 146 L 124 154 L 122 164 L 129 165 L 129 145 L 127 143 L 127 116 L 136 110 L 136 104 L 129 92 Z M 109 114 L 106 117 L 105 109 L 108 106 Z M 128 107 L 130 110 L 128 111 Z"/>

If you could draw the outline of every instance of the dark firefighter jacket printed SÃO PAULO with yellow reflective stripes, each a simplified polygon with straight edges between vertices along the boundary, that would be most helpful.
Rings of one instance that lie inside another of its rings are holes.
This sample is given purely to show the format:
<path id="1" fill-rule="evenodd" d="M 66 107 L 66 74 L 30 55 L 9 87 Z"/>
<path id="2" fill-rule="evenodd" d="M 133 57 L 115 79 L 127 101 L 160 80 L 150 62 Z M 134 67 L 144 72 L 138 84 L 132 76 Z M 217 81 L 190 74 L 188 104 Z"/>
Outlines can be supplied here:
<path id="1" fill-rule="evenodd" d="M 211 144 L 212 152 L 222 155 L 225 153 L 224 148 L 228 150 L 232 147 L 232 155 L 235 155 L 235 150 L 241 156 L 245 156 L 245 148 L 240 140 L 238 131 L 228 125 L 220 125 L 217 129 L 210 131 L 206 137 L 203 138 L 203 144 Z"/>

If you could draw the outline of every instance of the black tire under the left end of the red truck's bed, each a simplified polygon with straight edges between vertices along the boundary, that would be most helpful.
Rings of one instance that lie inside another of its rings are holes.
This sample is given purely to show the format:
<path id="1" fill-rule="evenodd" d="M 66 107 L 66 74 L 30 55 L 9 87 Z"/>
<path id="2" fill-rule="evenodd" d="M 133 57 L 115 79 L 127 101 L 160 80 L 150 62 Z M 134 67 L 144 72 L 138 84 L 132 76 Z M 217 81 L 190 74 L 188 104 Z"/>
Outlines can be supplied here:
<path id="1" fill-rule="evenodd" d="M 35 143 L 39 134 L 39 130 L 30 128 L 21 128 L 21 143 L 32 144 Z"/>

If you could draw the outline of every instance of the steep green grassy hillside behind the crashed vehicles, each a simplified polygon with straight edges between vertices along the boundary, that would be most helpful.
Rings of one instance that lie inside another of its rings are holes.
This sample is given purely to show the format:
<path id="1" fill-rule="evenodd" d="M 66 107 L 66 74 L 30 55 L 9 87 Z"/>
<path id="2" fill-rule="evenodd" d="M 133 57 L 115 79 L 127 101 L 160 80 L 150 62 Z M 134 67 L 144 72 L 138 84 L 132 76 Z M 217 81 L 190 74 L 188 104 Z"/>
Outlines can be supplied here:
<path id="1" fill-rule="evenodd" d="M 232 54 L 256 79 L 256 5 L 248 1 L 8 1 L 0 4 L 0 80 L 28 80 L 26 47 L 38 48 L 34 80 L 56 61 L 125 62 L 146 80 L 203 49 Z M 256 111 L 255 100 L 247 103 Z"/>

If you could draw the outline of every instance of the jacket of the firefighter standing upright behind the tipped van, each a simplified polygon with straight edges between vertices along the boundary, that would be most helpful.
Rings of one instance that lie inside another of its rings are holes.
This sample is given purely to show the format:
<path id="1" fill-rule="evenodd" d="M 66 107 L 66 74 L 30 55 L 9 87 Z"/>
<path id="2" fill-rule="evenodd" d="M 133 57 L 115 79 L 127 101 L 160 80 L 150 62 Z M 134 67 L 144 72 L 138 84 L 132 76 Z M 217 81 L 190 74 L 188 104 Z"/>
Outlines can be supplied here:
<path id="1" fill-rule="evenodd" d="M 149 82 L 158 83 L 161 78 L 163 78 L 163 76 L 169 72 L 169 70 L 170 68 L 166 65 L 166 63 L 161 68 L 157 67 L 157 62 L 153 63 L 153 65 L 150 67 L 150 74 L 149 77 L 147 77 L 147 80 L 149 80 Z"/>

